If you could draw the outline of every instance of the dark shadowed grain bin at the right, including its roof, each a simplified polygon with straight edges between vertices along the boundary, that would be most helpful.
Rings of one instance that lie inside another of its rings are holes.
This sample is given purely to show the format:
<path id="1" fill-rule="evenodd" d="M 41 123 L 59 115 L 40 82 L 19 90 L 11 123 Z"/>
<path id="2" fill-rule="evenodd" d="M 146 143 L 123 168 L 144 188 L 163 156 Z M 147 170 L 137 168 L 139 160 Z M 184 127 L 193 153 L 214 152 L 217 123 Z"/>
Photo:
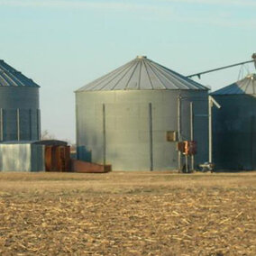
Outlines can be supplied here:
<path id="1" fill-rule="evenodd" d="M 217 169 L 256 169 L 256 75 L 221 88 L 212 96 L 213 157 Z"/>

